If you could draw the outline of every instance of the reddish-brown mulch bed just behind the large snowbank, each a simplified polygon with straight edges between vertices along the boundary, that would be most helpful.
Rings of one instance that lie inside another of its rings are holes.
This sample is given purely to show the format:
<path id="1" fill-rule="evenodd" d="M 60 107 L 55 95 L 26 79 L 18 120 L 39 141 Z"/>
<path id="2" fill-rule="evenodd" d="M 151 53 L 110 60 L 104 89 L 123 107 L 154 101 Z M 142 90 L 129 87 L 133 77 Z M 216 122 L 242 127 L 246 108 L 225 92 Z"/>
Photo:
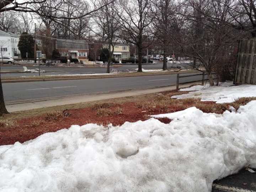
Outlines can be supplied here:
<path id="1" fill-rule="evenodd" d="M 69 128 L 71 125 L 84 125 L 87 123 L 97 123 L 106 126 L 112 123 L 114 126 L 122 125 L 124 122 L 136 122 L 139 120 L 146 120 L 150 114 L 159 114 L 164 111 L 155 109 L 155 111 L 142 112 L 136 103 L 123 103 L 121 106 L 122 114 L 112 116 L 98 117 L 97 110 L 92 108 L 82 108 L 76 110 L 68 110 L 65 113 L 68 117 L 60 116 L 56 118 L 47 118 L 47 115 L 40 117 L 31 117 L 17 120 L 17 127 L 14 128 L 1 128 L 0 129 L 0 145 L 14 144 L 15 142 L 26 142 L 27 140 L 34 139 L 39 135 L 47 132 L 55 132 L 63 128 Z M 113 107 L 114 108 L 114 107 Z M 173 109 L 171 111 L 176 111 Z M 159 121 L 163 123 L 170 123 L 170 119 L 160 118 Z M 41 122 L 41 123 L 33 123 Z"/>

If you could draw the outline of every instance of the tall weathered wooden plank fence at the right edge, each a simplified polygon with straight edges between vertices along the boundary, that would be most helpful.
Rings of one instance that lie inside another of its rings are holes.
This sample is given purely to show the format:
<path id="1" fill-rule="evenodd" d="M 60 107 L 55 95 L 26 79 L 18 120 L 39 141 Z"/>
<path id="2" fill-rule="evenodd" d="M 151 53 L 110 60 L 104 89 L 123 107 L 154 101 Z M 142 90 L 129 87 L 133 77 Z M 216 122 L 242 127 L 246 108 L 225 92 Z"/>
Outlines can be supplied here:
<path id="1" fill-rule="evenodd" d="M 256 38 L 239 41 L 235 84 L 256 84 Z"/>

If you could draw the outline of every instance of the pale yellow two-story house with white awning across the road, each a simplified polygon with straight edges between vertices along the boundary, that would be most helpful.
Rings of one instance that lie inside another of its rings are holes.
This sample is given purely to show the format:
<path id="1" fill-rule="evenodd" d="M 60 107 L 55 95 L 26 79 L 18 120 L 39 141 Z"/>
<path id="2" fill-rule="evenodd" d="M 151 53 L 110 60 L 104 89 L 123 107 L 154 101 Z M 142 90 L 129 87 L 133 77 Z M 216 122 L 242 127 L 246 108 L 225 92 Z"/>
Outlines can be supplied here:
<path id="1" fill-rule="evenodd" d="M 107 47 L 107 45 L 104 45 L 104 48 Z M 114 46 L 113 58 L 119 61 L 130 58 L 130 46 L 128 44 L 116 44 Z"/>

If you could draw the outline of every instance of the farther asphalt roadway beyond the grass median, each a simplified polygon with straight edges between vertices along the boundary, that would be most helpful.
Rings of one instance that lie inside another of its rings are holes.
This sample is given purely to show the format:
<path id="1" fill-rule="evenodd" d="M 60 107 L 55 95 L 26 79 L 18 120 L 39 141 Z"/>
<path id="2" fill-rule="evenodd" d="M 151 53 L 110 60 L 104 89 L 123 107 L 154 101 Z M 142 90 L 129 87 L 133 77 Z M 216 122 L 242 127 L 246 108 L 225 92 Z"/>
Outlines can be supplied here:
<path id="1" fill-rule="evenodd" d="M 162 62 L 155 61 L 156 63 L 150 65 L 143 65 L 143 69 L 161 69 Z M 167 63 L 167 67 L 170 63 Z M 38 69 L 38 66 L 29 66 L 28 69 Z M 126 71 L 130 69 L 136 69 L 138 65 L 123 65 L 119 67 L 111 67 L 111 69 L 117 69 L 119 71 Z M 55 67 L 55 66 L 40 66 L 40 69 L 45 70 L 46 73 L 41 73 L 41 75 L 79 75 L 79 74 L 97 74 L 106 73 L 106 68 L 85 68 L 85 67 Z M 2 71 L 23 71 L 22 66 L 1 66 Z M 1 74 L 3 77 L 17 77 L 17 76 L 37 76 L 37 73 L 7 73 Z"/>

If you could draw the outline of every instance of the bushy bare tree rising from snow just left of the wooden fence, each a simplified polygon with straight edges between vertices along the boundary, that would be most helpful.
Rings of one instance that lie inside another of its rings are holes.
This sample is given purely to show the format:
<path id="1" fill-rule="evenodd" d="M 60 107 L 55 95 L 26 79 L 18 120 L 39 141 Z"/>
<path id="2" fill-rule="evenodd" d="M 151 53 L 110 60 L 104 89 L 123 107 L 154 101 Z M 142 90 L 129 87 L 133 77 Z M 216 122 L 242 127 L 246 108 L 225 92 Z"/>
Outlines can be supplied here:
<path id="1" fill-rule="evenodd" d="M 206 70 L 210 85 L 214 85 L 213 71 L 228 53 L 237 36 L 230 26 L 228 13 L 231 1 L 189 0 L 191 10 L 183 25 L 183 35 L 176 38 L 177 46 L 191 58 L 199 60 Z M 197 69 L 200 70 L 199 66 Z"/>

